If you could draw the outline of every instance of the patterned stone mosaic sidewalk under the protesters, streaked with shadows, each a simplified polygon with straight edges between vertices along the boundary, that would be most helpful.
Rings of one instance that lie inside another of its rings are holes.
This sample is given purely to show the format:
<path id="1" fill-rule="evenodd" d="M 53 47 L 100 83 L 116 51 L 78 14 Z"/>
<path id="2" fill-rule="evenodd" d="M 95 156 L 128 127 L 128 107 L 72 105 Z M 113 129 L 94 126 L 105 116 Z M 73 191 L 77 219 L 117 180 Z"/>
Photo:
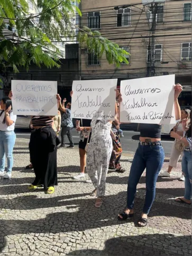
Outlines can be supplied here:
<path id="1" fill-rule="evenodd" d="M 178 180 L 180 163 L 171 178 L 158 178 L 149 225 L 138 228 L 134 222 L 143 207 L 144 175 L 136 193 L 134 222 L 117 220 L 126 204 L 131 154 L 122 157 L 124 174 L 108 173 L 106 198 L 96 209 L 95 198 L 89 196 L 92 184 L 72 179 L 79 173 L 77 148 L 58 151 L 59 186 L 54 194 L 29 192 L 34 174 L 24 170 L 29 164 L 28 143 L 17 139 L 12 179 L 0 180 L 0 255 L 191 255 L 191 207 L 172 199 L 184 195 L 184 182 Z"/>

